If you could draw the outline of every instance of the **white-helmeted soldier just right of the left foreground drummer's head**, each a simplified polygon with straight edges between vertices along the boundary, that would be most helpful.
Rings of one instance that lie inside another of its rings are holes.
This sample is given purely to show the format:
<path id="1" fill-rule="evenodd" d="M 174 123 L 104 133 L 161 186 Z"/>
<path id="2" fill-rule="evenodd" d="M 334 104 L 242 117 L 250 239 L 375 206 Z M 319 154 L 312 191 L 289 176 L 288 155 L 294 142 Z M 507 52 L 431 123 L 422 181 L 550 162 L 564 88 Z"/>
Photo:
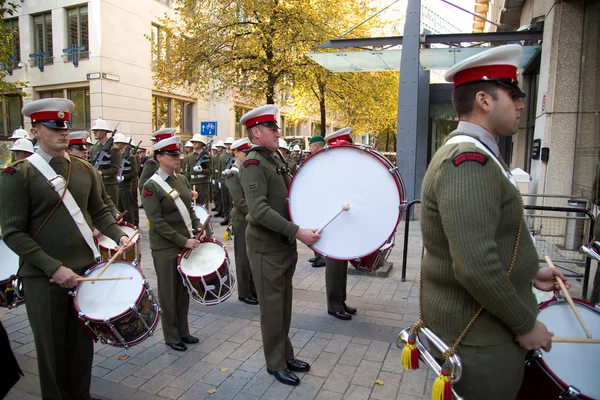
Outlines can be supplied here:
<path id="1" fill-rule="evenodd" d="M 106 153 L 102 154 L 103 146 L 110 140 L 108 133 L 112 132 L 112 130 L 108 128 L 108 124 L 105 120 L 100 118 L 97 119 L 94 122 L 91 131 L 96 139 L 96 144 L 94 144 L 90 150 L 92 166 L 94 168 L 97 167 L 98 171 L 100 171 L 106 192 L 117 208 L 119 208 L 119 182 L 117 180 L 117 174 L 119 173 L 119 167 L 121 166 L 121 152 L 119 151 L 119 148 L 113 144 Z M 100 157 L 101 154 L 102 157 Z"/>

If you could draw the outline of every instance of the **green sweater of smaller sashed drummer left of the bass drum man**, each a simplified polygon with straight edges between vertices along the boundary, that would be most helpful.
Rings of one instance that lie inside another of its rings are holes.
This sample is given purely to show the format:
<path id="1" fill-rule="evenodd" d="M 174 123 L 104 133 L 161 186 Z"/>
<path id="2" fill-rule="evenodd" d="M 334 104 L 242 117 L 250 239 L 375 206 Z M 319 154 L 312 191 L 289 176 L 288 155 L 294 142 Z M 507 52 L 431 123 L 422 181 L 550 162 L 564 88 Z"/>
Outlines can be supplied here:
<path id="1" fill-rule="evenodd" d="M 192 205 L 192 193 L 190 184 L 181 174 L 168 176 L 163 170 L 158 169 L 158 174 L 179 192 L 179 196 L 187 209 L 190 211 L 192 228 L 200 227 L 200 220 Z M 142 193 L 144 210 L 150 220 L 150 249 L 163 250 L 172 247 L 183 247 L 190 234 L 185 222 L 179 213 L 175 201 L 156 182 L 149 179 L 144 184 Z"/>

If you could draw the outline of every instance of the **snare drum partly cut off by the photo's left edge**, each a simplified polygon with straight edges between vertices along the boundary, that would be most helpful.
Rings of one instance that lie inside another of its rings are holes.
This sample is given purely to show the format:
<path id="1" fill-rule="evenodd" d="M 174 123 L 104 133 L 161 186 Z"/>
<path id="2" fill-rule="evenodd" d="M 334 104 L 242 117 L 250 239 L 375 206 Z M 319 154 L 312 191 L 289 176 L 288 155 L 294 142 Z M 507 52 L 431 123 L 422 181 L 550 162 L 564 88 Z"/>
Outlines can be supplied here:
<path id="1" fill-rule="evenodd" d="M 25 301 L 23 283 L 17 274 L 19 256 L 8 248 L 0 236 L 0 307 L 13 308 Z"/>

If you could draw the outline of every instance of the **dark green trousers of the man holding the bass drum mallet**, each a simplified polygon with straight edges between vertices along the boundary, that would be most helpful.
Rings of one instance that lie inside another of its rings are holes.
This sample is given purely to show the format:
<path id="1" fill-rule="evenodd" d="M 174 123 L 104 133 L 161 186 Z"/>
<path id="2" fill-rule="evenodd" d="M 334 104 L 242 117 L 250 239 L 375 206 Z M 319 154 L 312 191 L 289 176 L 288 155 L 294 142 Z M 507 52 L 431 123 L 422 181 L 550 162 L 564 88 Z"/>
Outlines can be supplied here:
<path id="1" fill-rule="evenodd" d="M 260 307 L 260 328 L 267 368 L 287 368 L 294 358 L 289 332 L 292 321 L 292 277 L 296 270 L 296 245 L 280 253 L 259 253 L 246 246 Z"/>

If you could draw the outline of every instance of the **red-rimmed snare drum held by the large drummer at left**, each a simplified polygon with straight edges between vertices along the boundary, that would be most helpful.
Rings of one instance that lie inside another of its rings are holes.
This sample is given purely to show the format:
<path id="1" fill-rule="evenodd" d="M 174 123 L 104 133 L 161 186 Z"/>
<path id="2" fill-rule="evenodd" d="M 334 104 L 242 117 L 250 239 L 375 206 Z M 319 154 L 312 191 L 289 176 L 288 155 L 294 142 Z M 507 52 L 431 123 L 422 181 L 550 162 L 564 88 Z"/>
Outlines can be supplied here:
<path id="1" fill-rule="evenodd" d="M 98 276 L 106 261 L 84 273 Z M 136 262 L 115 260 L 102 276 L 131 280 L 79 282 L 73 306 L 85 326 L 102 343 L 128 348 L 144 341 L 158 325 L 160 307 Z"/>

